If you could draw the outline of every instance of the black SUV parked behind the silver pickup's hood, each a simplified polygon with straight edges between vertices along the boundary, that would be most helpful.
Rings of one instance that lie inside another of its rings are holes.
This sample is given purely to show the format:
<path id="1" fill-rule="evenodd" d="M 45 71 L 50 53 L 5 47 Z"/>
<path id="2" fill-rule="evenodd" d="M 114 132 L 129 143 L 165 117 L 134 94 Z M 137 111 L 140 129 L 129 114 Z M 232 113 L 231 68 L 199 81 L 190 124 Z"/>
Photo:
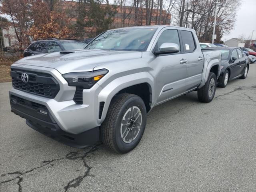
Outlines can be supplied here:
<path id="1" fill-rule="evenodd" d="M 32 42 L 23 53 L 23 57 L 51 53 L 63 50 L 82 49 L 86 46 L 83 42 L 76 39 L 56 39 L 44 38 Z"/>

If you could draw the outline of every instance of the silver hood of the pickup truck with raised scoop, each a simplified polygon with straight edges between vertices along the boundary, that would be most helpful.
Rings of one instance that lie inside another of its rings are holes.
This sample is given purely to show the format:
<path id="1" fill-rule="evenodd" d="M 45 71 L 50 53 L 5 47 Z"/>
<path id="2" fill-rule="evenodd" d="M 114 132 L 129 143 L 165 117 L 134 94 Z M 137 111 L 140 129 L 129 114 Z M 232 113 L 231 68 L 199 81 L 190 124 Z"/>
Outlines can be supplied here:
<path id="1" fill-rule="evenodd" d="M 61 74 L 65 74 L 69 72 L 92 71 L 94 67 L 101 64 L 141 57 L 142 52 L 138 51 L 80 49 L 29 56 L 18 60 L 15 64 L 54 68 Z"/>

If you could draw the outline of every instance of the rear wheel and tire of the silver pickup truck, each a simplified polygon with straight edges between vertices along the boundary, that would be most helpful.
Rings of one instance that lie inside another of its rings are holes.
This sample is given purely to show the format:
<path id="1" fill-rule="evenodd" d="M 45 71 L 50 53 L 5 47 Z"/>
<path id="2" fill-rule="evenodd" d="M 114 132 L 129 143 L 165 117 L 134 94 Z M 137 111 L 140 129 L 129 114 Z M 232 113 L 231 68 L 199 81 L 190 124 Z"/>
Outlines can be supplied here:
<path id="1" fill-rule="evenodd" d="M 210 72 L 205 85 L 202 88 L 197 90 L 198 100 L 204 103 L 211 102 L 215 95 L 216 84 L 217 84 L 216 75 L 213 72 Z M 210 92 L 210 89 L 211 89 L 211 92 Z"/>

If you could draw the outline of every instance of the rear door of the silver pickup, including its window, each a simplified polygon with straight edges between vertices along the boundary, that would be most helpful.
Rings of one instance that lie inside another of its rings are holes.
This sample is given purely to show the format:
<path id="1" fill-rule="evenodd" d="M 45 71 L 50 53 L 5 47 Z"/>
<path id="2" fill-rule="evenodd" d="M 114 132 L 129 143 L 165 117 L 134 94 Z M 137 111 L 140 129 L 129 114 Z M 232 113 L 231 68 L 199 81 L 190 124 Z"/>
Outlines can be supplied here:
<path id="1" fill-rule="evenodd" d="M 202 81 L 204 56 L 200 47 L 196 47 L 194 34 L 188 30 L 181 30 L 184 58 L 187 63 L 186 90 L 196 88 Z"/>

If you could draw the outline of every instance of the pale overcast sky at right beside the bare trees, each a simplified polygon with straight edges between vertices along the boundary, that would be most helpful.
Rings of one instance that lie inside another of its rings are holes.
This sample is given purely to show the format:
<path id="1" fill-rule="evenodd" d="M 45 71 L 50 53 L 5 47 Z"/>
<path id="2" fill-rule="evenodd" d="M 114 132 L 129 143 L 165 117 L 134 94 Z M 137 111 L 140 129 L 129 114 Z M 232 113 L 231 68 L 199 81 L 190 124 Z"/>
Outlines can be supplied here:
<path id="1" fill-rule="evenodd" d="M 252 36 L 252 30 L 255 30 Z M 245 40 L 256 39 L 256 0 L 241 0 L 237 10 L 234 29 L 222 37 L 222 40 L 239 38 L 243 34 Z"/>

